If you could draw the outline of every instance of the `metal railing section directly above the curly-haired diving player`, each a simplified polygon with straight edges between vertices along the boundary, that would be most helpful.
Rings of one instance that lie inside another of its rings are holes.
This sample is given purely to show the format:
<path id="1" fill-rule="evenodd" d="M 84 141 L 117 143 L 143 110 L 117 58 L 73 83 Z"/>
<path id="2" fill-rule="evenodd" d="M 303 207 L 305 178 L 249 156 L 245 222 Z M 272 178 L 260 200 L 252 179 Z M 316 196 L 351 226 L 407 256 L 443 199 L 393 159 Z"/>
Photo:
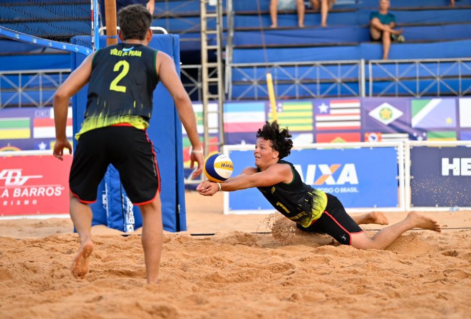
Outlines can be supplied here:
<path id="1" fill-rule="evenodd" d="M 280 99 L 365 96 L 364 64 L 364 60 L 231 63 L 229 99 L 265 99 L 268 72 Z M 235 92 L 238 86 L 241 92 Z"/>

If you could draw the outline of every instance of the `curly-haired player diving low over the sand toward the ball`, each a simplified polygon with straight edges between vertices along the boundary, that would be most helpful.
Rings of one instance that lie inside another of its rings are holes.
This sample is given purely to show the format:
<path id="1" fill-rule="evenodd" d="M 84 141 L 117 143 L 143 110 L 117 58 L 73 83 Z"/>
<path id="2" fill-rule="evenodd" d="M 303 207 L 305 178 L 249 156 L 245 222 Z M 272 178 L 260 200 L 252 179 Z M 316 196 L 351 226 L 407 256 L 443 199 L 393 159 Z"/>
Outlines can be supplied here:
<path id="1" fill-rule="evenodd" d="M 381 212 L 352 219 L 335 196 L 303 183 L 293 164 L 282 160 L 291 153 L 293 142 L 288 129 L 280 130 L 276 121 L 266 122 L 256 137 L 256 167 L 247 167 L 241 175 L 224 183 L 204 181 L 198 185 L 198 192 L 211 196 L 219 190 L 231 192 L 257 187 L 276 210 L 296 222 L 297 228 L 324 232 L 341 244 L 360 249 L 386 249 L 404 231 L 416 227 L 441 231 L 435 220 L 411 211 L 403 221 L 383 228 L 373 238 L 368 237 L 358 224 L 388 224 Z"/>

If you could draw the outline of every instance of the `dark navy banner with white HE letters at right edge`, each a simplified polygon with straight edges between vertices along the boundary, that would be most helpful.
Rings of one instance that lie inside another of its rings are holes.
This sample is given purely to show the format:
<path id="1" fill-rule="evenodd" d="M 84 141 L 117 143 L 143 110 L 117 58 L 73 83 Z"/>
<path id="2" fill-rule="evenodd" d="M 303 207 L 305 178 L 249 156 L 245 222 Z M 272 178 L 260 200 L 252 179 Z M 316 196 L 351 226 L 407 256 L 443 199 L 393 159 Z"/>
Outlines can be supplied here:
<path id="1" fill-rule="evenodd" d="M 412 206 L 471 207 L 469 194 L 471 147 L 411 148 Z"/>

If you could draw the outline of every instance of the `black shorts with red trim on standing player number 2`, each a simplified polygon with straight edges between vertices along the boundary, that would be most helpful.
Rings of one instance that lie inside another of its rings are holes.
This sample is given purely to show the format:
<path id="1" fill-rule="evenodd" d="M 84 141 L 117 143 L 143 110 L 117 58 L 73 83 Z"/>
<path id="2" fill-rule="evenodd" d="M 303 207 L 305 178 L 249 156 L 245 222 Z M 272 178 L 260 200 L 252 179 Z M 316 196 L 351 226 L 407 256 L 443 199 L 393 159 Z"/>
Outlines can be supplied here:
<path id="1" fill-rule="evenodd" d="M 118 170 L 133 204 L 152 202 L 160 190 L 154 146 L 145 130 L 133 126 L 106 126 L 83 133 L 70 169 L 71 193 L 82 203 L 93 203 L 109 164 Z"/>

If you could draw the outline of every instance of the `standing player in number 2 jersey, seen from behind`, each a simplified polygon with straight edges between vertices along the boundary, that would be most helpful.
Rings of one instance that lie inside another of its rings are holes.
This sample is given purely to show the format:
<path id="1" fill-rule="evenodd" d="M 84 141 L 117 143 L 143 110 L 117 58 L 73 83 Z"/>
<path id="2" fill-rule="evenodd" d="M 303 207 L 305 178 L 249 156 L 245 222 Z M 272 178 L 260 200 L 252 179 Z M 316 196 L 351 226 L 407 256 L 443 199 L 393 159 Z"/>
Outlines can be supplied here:
<path id="1" fill-rule="evenodd" d="M 172 95 L 191 145 L 191 167 L 203 169 L 203 152 L 196 130 L 191 101 L 183 88 L 174 61 L 148 47 L 152 15 L 140 5 L 118 13 L 121 44 L 106 47 L 90 56 L 57 89 L 54 95 L 56 143 L 54 156 L 62 160 L 63 149 L 72 147 L 66 138 L 69 99 L 89 82 L 87 110 L 74 152 L 69 185 L 70 216 L 81 246 L 72 263 L 72 273 L 83 278 L 93 251 L 92 211 L 97 187 L 106 168 L 119 171 L 127 195 L 138 205 L 143 218 L 142 246 L 148 283 L 157 283 L 162 251 L 160 177 L 152 142 L 145 131 L 152 114 L 152 98 L 161 81 Z"/>

